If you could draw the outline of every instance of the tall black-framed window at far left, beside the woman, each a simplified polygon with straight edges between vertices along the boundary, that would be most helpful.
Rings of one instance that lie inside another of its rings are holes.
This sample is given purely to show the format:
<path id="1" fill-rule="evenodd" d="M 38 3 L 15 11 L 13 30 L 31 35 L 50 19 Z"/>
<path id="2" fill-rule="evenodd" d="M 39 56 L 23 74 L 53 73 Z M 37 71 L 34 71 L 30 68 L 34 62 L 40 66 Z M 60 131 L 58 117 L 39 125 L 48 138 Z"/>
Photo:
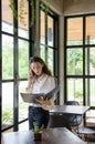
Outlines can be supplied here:
<path id="1" fill-rule="evenodd" d="M 15 8 L 19 8 L 19 0 L 14 2 Z M 13 19 L 9 7 L 10 0 L 1 0 L 1 131 L 11 127 L 17 131 L 21 128 L 19 124 L 28 120 L 28 104 L 22 102 L 20 92 L 25 91 L 29 58 L 33 54 L 31 45 L 34 41 L 30 34 L 32 29 L 30 30 L 29 27 L 29 2 L 23 0 L 25 6 L 24 22 L 21 22 L 20 19 Z M 18 9 L 18 13 L 20 13 L 20 9 Z"/>

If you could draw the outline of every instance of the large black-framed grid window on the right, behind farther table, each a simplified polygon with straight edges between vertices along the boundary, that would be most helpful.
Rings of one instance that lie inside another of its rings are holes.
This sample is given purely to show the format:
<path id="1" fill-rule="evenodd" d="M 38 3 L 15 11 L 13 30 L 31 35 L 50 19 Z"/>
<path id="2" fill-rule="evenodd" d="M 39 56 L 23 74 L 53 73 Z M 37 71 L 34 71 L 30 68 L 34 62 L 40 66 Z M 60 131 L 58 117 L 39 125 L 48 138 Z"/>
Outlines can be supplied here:
<path id="1" fill-rule="evenodd" d="M 65 101 L 95 105 L 95 14 L 65 18 Z"/>

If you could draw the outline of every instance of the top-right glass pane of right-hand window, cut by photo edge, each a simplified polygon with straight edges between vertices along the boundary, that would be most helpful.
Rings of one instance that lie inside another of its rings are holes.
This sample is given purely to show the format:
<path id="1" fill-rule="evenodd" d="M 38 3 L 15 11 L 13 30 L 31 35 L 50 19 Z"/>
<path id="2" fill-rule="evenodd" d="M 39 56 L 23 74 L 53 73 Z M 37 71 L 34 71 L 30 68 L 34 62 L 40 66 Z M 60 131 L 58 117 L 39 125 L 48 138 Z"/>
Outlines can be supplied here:
<path id="1" fill-rule="evenodd" d="M 86 18 L 86 44 L 95 44 L 95 17 Z"/>

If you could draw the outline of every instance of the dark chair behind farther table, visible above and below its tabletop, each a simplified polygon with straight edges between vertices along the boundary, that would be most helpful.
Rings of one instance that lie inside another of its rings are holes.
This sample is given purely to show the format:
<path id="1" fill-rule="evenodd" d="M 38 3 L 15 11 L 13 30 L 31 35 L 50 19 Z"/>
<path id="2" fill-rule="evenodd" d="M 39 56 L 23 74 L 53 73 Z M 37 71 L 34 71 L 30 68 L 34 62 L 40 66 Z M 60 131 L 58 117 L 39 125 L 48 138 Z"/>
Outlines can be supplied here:
<path id="1" fill-rule="evenodd" d="M 80 105 L 77 101 L 67 101 L 65 105 Z M 82 123 L 82 115 L 64 114 L 71 126 L 78 126 Z"/>

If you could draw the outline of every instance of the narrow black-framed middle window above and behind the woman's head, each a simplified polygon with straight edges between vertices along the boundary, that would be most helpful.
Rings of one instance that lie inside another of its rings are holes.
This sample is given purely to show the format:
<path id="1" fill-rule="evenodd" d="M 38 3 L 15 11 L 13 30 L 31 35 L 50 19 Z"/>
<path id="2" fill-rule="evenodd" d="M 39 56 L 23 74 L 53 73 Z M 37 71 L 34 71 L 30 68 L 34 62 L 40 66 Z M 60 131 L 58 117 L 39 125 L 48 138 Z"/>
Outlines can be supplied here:
<path id="1" fill-rule="evenodd" d="M 44 6 L 45 7 L 45 6 Z M 49 68 L 51 69 L 54 76 L 57 78 L 57 56 L 59 56 L 59 18 L 57 16 L 49 11 L 44 12 L 40 10 L 40 55 Z"/>

